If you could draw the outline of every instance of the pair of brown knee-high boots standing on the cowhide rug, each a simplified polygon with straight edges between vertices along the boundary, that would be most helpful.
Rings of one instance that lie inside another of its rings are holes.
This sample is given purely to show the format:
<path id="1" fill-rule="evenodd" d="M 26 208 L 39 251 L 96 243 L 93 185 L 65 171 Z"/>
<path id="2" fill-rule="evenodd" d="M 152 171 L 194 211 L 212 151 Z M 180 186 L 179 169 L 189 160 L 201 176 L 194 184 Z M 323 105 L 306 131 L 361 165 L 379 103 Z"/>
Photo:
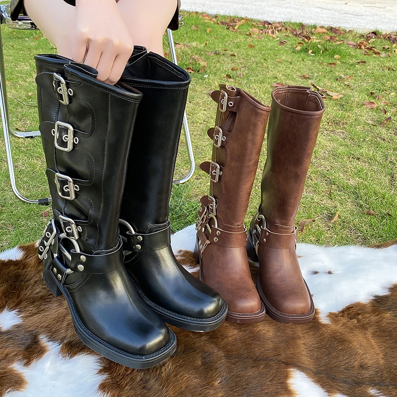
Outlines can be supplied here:
<path id="1" fill-rule="evenodd" d="M 240 88 L 220 85 L 210 175 L 201 198 L 195 255 L 200 279 L 228 304 L 226 320 L 255 323 L 265 313 L 282 323 L 307 323 L 315 308 L 296 255 L 295 217 L 325 110 L 323 95 L 309 87 L 272 92 L 271 109 Z M 250 230 L 248 201 L 267 128 L 262 198 Z M 248 256 L 247 256 L 248 253 Z M 259 262 L 257 286 L 248 258 Z"/>

